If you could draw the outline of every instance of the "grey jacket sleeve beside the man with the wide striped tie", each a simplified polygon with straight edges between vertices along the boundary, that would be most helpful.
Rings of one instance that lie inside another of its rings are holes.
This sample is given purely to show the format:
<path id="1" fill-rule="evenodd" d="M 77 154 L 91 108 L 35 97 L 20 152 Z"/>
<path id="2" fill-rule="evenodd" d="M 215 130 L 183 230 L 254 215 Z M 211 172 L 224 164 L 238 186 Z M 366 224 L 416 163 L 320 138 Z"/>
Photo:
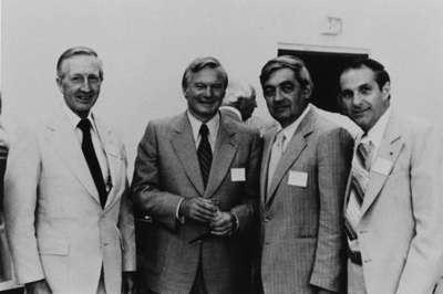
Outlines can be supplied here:
<path id="1" fill-rule="evenodd" d="M 352 146 L 349 133 L 336 128 L 322 135 L 317 147 L 320 213 L 310 283 L 333 292 L 342 290 L 346 275 L 346 239 L 341 216 Z"/>

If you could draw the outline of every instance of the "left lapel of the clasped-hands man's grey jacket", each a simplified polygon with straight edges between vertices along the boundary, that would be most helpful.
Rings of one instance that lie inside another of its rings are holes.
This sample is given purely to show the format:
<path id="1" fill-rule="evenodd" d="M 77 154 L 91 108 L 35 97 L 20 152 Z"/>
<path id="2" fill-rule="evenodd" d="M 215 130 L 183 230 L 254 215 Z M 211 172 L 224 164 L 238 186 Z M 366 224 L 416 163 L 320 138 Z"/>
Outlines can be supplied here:
<path id="1" fill-rule="evenodd" d="M 193 130 L 189 120 L 186 117 L 186 113 L 179 116 L 178 119 L 173 123 L 172 127 L 175 134 L 171 141 L 175 154 L 185 169 L 188 179 L 194 185 L 195 189 L 203 196 L 204 186 L 202 172 L 200 167 L 198 166 Z"/>

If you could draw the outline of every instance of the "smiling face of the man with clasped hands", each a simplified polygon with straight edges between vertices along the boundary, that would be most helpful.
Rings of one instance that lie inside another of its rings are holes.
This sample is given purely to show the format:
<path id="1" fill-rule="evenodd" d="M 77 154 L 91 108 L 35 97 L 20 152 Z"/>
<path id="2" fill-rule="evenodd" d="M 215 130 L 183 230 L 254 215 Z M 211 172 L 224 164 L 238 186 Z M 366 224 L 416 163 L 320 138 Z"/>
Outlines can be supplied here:
<path id="1" fill-rule="evenodd" d="M 204 67 L 194 73 L 184 91 L 189 112 L 207 122 L 217 113 L 225 96 L 225 78 L 218 69 Z"/>

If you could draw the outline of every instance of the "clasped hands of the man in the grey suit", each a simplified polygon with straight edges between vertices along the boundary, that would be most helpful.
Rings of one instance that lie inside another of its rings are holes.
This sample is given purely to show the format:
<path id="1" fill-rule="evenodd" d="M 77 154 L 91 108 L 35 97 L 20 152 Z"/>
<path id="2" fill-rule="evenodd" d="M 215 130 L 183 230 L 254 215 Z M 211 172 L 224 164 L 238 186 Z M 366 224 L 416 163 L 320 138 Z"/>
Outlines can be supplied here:
<path id="1" fill-rule="evenodd" d="M 185 199 L 179 207 L 179 214 L 207 223 L 214 235 L 230 235 L 235 228 L 234 216 L 230 212 L 220 211 L 210 199 L 200 197 Z"/>

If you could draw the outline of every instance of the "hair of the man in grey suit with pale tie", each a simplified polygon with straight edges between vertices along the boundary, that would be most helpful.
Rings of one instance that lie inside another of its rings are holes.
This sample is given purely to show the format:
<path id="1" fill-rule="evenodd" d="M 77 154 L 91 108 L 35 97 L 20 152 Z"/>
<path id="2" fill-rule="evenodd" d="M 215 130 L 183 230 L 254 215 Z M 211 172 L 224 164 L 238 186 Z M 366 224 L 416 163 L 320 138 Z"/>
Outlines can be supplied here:
<path id="1" fill-rule="evenodd" d="M 301 88 L 310 87 L 312 91 L 313 83 L 305 62 L 299 57 L 293 55 L 281 55 L 268 61 L 261 69 L 260 83 L 261 86 L 268 81 L 269 76 L 277 70 L 290 69 L 296 75 L 297 82 L 300 84 Z"/>

